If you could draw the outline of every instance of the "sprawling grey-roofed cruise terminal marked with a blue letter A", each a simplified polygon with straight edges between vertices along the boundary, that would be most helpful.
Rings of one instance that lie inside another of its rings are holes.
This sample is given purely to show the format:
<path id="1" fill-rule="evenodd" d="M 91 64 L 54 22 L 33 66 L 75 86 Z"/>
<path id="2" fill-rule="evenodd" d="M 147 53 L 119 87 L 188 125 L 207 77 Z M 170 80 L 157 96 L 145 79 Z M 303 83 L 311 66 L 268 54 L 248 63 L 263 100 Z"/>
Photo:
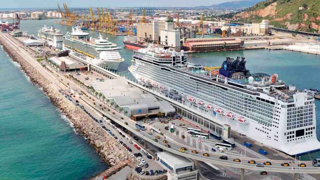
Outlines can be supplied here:
<path id="1" fill-rule="evenodd" d="M 175 109 L 166 101 L 158 101 L 152 94 L 144 94 L 139 88 L 128 84 L 125 77 L 92 81 L 91 86 L 103 94 L 117 111 L 132 120 L 157 117 L 159 112 L 164 116 L 175 115 Z"/>

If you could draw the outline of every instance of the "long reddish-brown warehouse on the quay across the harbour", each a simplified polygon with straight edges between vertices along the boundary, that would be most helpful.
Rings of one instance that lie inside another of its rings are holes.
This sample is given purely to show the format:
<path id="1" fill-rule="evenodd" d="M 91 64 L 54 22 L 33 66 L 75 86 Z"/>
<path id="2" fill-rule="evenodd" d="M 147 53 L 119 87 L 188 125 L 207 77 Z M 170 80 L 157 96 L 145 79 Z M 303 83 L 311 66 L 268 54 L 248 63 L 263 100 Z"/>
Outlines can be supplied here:
<path id="1" fill-rule="evenodd" d="M 182 49 L 185 51 L 217 51 L 243 48 L 244 40 L 240 38 L 193 38 L 184 39 Z"/>

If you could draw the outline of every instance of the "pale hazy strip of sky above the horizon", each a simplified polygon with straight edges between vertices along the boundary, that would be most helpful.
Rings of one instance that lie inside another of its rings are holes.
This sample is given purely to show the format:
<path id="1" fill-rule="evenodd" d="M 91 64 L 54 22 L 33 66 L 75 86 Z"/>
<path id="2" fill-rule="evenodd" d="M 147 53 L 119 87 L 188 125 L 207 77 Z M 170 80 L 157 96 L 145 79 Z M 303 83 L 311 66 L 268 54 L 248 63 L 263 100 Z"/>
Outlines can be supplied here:
<path id="1" fill-rule="evenodd" d="M 220 4 L 234 0 L 1 0 L 0 8 L 52 8 L 57 3 L 69 7 L 193 7 Z"/>

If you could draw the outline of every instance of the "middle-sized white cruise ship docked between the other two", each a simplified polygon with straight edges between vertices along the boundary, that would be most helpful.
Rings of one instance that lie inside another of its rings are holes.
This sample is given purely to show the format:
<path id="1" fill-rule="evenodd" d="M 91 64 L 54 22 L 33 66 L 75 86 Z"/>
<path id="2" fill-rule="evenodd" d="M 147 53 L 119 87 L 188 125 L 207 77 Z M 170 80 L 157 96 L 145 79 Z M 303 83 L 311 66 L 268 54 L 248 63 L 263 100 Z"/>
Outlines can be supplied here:
<path id="1" fill-rule="evenodd" d="M 103 39 L 91 38 L 89 33 L 83 32 L 80 27 L 72 27 L 72 32 L 63 37 L 63 49 L 70 50 L 89 64 L 95 64 L 106 69 L 117 70 L 124 59 L 119 53 L 120 47 Z"/>

